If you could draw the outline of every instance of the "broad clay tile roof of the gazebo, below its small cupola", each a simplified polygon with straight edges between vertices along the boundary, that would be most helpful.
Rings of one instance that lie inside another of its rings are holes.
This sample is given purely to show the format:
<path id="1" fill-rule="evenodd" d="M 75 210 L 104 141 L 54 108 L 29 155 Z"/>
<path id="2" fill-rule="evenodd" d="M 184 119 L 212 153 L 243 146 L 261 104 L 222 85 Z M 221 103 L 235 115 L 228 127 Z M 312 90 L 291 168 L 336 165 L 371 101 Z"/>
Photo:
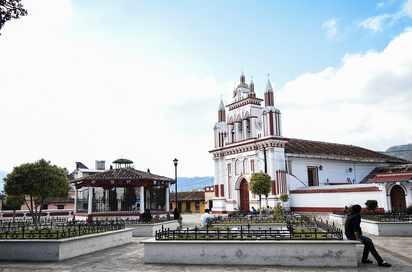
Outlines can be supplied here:
<path id="1" fill-rule="evenodd" d="M 87 177 L 81 177 L 78 179 L 71 180 L 71 183 L 83 181 L 83 180 L 136 180 L 136 179 L 147 179 L 153 181 L 175 181 L 168 177 L 162 177 L 155 174 L 150 174 L 144 171 L 131 169 L 131 168 L 115 168 L 113 170 L 108 170 L 105 172 L 100 172 L 92 174 Z"/>

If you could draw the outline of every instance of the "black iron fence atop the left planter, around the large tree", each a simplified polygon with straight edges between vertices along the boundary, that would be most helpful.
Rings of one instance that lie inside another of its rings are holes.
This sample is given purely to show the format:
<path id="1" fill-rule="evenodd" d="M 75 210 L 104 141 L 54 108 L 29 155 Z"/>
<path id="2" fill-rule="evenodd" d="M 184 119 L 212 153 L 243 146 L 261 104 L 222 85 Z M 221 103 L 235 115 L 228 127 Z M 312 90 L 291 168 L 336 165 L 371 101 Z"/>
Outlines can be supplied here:
<path id="1" fill-rule="evenodd" d="M 21 226 L 19 230 L 0 232 L 0 239 L 62 239 L 119 229 L 124 229 L 124 223 L 68 221 L 55 223 L 50 228 L 42 228 L 40 231 L 33 229 L 33 226 Z"/>

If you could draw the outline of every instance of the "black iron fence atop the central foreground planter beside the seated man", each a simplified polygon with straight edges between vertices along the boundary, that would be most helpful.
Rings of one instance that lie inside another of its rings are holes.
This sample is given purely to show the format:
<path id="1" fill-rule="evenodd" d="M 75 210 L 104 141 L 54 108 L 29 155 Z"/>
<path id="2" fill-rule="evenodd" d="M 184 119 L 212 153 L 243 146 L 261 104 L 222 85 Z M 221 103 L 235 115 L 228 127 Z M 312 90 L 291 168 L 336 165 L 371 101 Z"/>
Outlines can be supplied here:
<path id="1" fill-rule="evenodd" d="M 327 225 L 327 224 L 326 224 Z M 325 227 L 325 226 L 323 226 Z M 318 230 L 318 228 L 294 228 L 290 223 L 287 223 L 287 228 L 268 228 L 262 230 L 252 229 L 250 224 L 243 228 L 213 228 L 201 230 L 197 226 L 194 229 L 187 228 L 186 230 L 162 230 L 156 231 L 156 240 L 174 239 L 174 240 L 342 240 L 342 230 L 334 228 L 334 226 L 325 227 L 326 230 Z"/>

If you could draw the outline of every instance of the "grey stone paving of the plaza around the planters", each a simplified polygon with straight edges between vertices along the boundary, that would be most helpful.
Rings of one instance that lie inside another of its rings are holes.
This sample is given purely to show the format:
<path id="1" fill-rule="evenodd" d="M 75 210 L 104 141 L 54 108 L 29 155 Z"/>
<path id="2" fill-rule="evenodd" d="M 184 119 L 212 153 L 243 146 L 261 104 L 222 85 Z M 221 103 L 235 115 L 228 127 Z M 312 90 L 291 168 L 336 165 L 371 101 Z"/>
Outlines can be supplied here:
<path id="1" fill-rule="evenodd" d="M 183 226 L 192 227 L 199 225 L 201 214 L 184 214 Z M 328 220 L 326 214 L 320 215 L 323 220 Z M 337 225 L 343 228 L 341 225 Z M 133 242 L 121 246 L 96 251 L 88 255 L 78 256 L 60 262 L 33 262 L 33 261 L 0 261 L 0 271 L 165 271 L 165 272 L 191 272 L 191 271 L 412 271 L 412 236 L 387 236 L 379 237 L 369 235 L 377 251 L 392 267 L 379 267 L 375 259 L 372 264 L 360 262 L 363 245 L 357 245 L 358 267 L 296 267 L 277 265 L 182 265 L 182 264 L 148 264 L 144 263 L 144 248 L 139 242 L 147 237 L 133 237 Z M 190 252 L 187 252 L 190 255 Z"/>

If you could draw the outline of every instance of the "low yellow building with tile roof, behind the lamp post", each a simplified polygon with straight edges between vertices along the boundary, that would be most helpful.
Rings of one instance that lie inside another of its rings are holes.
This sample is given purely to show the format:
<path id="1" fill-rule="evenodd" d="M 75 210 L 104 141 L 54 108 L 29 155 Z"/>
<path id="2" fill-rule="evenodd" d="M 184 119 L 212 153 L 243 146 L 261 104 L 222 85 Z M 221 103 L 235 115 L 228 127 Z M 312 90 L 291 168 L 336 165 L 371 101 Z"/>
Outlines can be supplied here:
<path id="1" fill-rule="evenodd" d="M 176 193 L 169 193 L 170 210 L 176 208 Z M 180 213 L 190 210 L 192 213 L 204 213 L 205 211 L 205 193 L 204 191 L 196 192 L 178 192 L 178 210 Z"/>

